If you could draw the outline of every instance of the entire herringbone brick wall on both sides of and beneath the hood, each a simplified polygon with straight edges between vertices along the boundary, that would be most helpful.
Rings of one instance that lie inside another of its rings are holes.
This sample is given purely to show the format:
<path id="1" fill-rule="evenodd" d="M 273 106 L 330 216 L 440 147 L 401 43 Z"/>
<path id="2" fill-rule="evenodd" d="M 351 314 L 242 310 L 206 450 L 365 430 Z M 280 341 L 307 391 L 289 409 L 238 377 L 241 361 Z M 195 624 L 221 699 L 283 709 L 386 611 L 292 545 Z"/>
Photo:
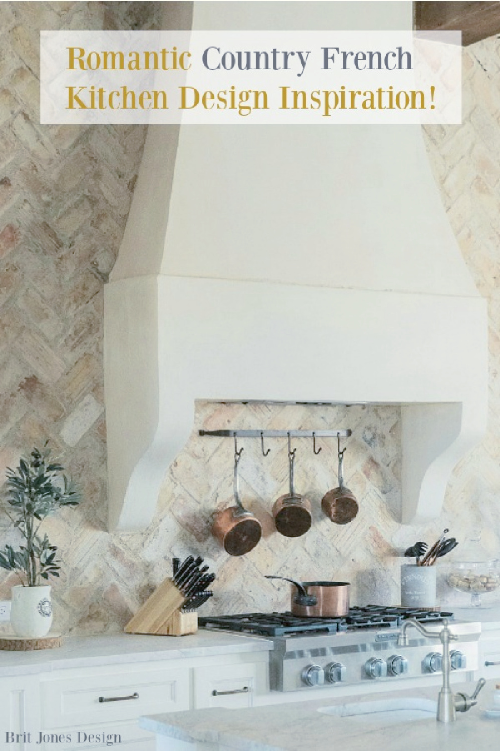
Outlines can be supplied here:
<path id="1" fill-rule="evenodd" d="M 489 550 L 500 541 L 500 112 L 498 40 L 464 52 L 464 125 L 425 128 L 429 157 L 459 245 L 490 309 L 490 426 L 483 444 L 453 474 L 441 518 L 398 523 L 401 421 L 395 407 L 214 405 L 198 403 L 195 430 L 168 471 L 156 516 L 137 535 L 106 532 L 105 416 L 102 393 L 102 279 L 114 264 L 144 143 L 139 127 L 44 128 L 38 122 L 38 30 L 148 28 L 153 3 L 0 5 L 0 473 L 47 436 L 83 486 L 76 511 L 50 520 L 64 560 L 54 586 L 56 627 L 120 629 L 170 572 L 170 558 L 199 550 L 217 571 L 208 613 L 283 609 L 286 584 L 266 573 L 338 578 L 353 602 L 399 601 L 398 553 L 444 526 L 463 540 L 482 526 Z M 97 269 L 93 264 L 97 264 Z M 466 354 L 465 354 L 466 356 Z M 287 489 L 286 442 L 244 442 L 244 504 L 262 520 L 252 553 L 229 558 L 210 534 L 211 515 L 232 502 L 232 442 L 200 439 L 199 427 L 351 427 L 346 481 L 359 515 L 335 526 L 323 493 L 337 485 L 335 442 L 298 441 L 296 488 L 311 499 L 302 538 L 274 532 L 271 508 Z M 0 517 L 2 539 L 12 540 Z M 440 581 L 442 582 L 441 576 Z M 3 577 L 0 598 L 13 578 Z M 452 594 L 441 585 L 441 602 Z M 455 598 L 455 595 L 453 595 Z M 455 600 L 456 601 L 456 600 Z"/>

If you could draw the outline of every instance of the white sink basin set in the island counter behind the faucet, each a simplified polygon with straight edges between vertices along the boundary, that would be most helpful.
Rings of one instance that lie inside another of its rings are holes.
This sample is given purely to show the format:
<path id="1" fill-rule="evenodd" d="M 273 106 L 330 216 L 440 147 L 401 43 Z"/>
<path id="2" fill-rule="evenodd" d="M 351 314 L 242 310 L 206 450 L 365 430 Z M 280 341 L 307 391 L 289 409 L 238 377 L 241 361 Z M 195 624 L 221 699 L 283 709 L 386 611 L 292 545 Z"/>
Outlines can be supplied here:
<path id="1" fill-rule="evenodd" d="M 408 697 L 402 699 L 380 699 L 378 701 L 353 701 L 350 704 L 335 704 L 320 707 L 318 712 L 350 717 L 357 722 L 380 722 L 395 725 L 397 722 L 412 722 L 417 719 L 435 719 L 438 702 L 432 699 Z"/>

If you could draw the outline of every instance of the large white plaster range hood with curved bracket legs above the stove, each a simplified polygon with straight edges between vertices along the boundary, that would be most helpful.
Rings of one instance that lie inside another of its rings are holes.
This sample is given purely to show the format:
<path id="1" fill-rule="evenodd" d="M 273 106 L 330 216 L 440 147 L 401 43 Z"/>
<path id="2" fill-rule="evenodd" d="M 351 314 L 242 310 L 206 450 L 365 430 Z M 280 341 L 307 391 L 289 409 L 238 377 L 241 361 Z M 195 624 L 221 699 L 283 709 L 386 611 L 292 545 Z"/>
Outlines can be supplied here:
<path id="1" fill-rule="evenodd" d="M 193 28 L 411 26 L 411 3 L 221 5 Z M 486 429 L 486 337 L 420 128 L 150 128 L 105 287 L 111 529 L 150 522 L 196 399 L 401 403 L 402 520 L 437 516 Z"/>

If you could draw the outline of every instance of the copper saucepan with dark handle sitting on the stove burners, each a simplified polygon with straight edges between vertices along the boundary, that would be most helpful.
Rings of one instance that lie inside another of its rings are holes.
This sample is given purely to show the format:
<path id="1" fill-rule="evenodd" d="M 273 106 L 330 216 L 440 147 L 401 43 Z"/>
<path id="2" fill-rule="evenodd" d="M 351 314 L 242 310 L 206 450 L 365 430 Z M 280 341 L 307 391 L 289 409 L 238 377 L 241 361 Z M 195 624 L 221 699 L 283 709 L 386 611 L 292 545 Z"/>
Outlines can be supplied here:
<path id="1" fill-rule="evenodd" d="M 338 618 L 349 612 L 350 584 L 347 581 L 295 581 L 286 576 L 266 576 L 292 584 L 292 615 L 303 618 Z"/>

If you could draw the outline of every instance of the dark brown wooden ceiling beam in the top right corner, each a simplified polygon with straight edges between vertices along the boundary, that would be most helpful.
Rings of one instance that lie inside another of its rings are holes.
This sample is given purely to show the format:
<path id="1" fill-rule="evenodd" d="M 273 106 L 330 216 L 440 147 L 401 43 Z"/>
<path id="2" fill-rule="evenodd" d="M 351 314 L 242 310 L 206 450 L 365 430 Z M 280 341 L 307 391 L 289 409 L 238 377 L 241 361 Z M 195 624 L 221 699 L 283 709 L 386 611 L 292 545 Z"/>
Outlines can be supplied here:
<path id="1" fill-rule="evenodd" d="M 462 44 L 500 34 L 500 2 L 414 2 L 415 29 L 462 31 Z"/>

